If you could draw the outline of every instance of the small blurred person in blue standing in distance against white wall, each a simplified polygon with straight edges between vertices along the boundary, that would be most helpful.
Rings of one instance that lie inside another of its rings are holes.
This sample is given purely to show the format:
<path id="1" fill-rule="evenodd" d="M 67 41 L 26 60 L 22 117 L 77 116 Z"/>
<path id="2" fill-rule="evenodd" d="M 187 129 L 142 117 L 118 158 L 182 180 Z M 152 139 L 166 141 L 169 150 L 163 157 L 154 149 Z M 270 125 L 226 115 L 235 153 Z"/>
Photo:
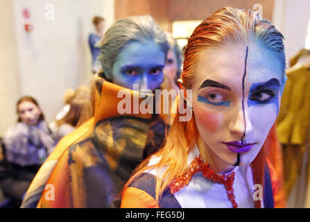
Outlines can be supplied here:
<path id="1" fill-rule="evenodd" d="M 92 24 L 94 25 L 95 33 L 89 34 L 88 44 L 90 51 L 92 52 L 92 71 L 93 73 L 96 73 L 101 68 L 100 62 L 97 60 L 100 54 L 100 46 L 98 43 L 103 37 L 105 30 L 105 19 L 103 17 L 95 16 L 92 19 Z"/>

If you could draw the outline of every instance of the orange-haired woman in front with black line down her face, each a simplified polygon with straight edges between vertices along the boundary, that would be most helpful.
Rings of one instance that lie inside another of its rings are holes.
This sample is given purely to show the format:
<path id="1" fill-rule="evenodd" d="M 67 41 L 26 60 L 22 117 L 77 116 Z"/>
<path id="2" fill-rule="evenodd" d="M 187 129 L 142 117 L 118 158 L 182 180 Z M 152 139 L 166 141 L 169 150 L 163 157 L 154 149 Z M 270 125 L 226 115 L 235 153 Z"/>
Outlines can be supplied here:
<path id="1" fill-rule="evenodd" d="M 176 114 L 162 150 L 123 189 L 121 207 L 274 207 L 264 142 L 286 76 L 283 36 L 257 12 L 225 7 L 189 38 Z M 189 94 L 188 92 L 191 92 Z"/>

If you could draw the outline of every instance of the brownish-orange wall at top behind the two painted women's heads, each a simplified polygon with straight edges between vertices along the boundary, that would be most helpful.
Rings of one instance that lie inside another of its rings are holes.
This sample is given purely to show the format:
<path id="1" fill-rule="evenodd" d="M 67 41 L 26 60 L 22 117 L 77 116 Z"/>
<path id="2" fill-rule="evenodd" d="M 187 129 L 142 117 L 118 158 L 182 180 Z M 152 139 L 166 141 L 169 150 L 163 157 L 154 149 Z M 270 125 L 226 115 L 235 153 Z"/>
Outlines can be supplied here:
<path id="1" fill-rule="evenodd" d="M 223 6 L 253 9 L 257 3 L 271 20 L 274 0 L 115 0 L 115 18 L 149 14 L 164 31 L 171 32 L 175 20 L 205 19 Z"/>

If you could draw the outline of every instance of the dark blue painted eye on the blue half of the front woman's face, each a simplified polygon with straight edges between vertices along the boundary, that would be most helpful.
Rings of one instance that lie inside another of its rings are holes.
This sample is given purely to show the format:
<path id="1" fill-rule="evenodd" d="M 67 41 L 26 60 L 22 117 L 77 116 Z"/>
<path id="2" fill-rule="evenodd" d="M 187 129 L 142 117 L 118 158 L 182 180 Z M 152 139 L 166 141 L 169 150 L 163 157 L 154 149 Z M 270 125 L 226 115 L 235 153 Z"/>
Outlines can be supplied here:
<path id="1" fill-rule="evenodd" d="M 248 107 L 274 103 L 279 112 L 279 80 L 272 78 L 265 83 L 255 83 L 250 87 Z"/>

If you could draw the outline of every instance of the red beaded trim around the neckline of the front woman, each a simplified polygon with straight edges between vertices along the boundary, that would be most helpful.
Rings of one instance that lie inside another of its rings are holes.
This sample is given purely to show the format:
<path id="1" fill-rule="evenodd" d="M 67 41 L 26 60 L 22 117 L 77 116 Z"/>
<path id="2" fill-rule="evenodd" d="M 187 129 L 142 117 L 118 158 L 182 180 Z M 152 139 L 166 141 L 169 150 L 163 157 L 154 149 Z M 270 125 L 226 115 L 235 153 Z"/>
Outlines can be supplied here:
<path id="1" fill-rule="evenodd" d="M 179 191 L 180 189 L 185 187 L 191 180 L 192 176 L 197 172 L 202 172 L 203 176 L 207 180 L 212 180 L 213 182 L 223 184 L 227 191 L 228 198 L 230 199 L 230 202 L 232 202 L 232 207 L 238 207 L 236 201 L 234 200 L 234 189 L 232 189 L 232 185 L 234 183 L 234 172 L 227 175 L 218 175 L 211 169 L 209 164 L 203 161 L 203 157 L 201 157 L 201 155 L 198 155 L 191 162 L 191 164 L 189 164 L 189 167 L 187 167 L 187 169 L 181 176 L 174 179 L 170 183 L 169 187 L 171 189 L 171 194 L 174 194 L 176 191 Z"/>

